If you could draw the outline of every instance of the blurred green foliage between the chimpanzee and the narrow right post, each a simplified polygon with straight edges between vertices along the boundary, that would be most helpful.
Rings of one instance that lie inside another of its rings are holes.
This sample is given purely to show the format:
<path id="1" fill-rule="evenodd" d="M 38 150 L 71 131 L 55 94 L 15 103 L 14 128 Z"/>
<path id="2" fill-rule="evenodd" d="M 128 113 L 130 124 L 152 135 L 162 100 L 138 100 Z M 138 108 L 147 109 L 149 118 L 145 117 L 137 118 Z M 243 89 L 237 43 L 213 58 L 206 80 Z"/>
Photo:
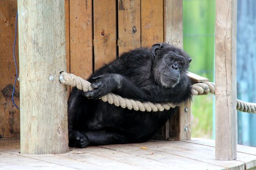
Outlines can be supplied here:
<path id="1" fill-rule="evenodd" d="M 214 81 L 215 0 L 183 0 L 183 48 L 189 71 Z M 194 96 L 192 136 L 212 135 L 212 95 Z"/>

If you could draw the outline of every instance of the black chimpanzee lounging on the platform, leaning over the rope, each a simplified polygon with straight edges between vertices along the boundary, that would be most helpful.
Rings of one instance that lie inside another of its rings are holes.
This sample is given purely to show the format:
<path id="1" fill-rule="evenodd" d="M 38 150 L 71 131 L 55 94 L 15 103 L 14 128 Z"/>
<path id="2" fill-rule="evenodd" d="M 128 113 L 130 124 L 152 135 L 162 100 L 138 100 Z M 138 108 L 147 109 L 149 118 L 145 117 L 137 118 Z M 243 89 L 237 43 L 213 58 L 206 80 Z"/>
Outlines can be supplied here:
<path id="1" fill-rule="evenodd" d="M 141 112 L 98 100 L 113 92 L 153 103 L 181 103 L 191 97 L 186 71 L 191 58 L 180 48 L 157 43 L 122 54 L 89 78 L 93 90 L 73 88 L 68 101 L 69 146 L 143 142 L 175 109 Z"/>

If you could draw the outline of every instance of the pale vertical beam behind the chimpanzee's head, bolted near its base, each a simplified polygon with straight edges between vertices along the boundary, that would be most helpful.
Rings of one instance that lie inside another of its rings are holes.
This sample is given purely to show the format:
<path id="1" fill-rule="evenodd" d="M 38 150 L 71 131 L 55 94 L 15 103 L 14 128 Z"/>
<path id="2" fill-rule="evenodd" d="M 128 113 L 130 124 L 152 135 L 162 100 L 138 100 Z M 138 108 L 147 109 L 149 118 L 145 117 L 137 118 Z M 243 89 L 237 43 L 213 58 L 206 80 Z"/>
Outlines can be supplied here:
<path id="1" fill-rule="evenodd" d="M 183 4 L 180 0 L 164 0 L 164 42 L 175 45 L 179 48 L 183 47 Z M 170 127 L 169 136 L 175 140 L 190 140 L 191 106 L 190 101 L 179 106 L 176 113 L 166 127 Z M 177 120 L 178 124 L 177 125 Z M 169 124 L 169 125 L 168 125 Z M 174 126 L 175 125 L 175 126 Z M 179 128 L 177 128 L 179 126 Z M 175 129 L 173 129 L 175 127 Z M 179 132 L 176 132 L 179 131 Z"/>

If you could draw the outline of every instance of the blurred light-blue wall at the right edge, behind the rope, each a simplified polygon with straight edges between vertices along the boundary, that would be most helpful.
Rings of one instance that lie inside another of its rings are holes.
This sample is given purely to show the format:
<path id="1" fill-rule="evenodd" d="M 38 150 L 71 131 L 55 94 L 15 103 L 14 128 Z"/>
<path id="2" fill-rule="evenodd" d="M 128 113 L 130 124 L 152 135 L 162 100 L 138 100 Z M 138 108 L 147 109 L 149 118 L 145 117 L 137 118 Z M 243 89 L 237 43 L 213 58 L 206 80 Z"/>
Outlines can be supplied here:
<path id="1" fill-rule="evenodd" d="M 238 0 L 238 99 L 256 103 L 256 1 Z M 256 147 L 256 114 L 238 112 L 238 143 Z"/>

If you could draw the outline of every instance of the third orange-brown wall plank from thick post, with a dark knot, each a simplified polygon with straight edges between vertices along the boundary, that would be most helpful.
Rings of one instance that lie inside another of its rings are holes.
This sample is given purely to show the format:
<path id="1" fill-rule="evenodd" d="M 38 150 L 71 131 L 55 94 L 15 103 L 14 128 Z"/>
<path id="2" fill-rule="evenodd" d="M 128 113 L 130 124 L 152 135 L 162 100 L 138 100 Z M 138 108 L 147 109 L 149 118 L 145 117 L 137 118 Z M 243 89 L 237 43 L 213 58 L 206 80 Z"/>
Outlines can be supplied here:
<path id="1" fill-rule="evenodd" d="M 119 55 L 141 47 L 140 1 L 118 1 L 118 52 Z"/>

